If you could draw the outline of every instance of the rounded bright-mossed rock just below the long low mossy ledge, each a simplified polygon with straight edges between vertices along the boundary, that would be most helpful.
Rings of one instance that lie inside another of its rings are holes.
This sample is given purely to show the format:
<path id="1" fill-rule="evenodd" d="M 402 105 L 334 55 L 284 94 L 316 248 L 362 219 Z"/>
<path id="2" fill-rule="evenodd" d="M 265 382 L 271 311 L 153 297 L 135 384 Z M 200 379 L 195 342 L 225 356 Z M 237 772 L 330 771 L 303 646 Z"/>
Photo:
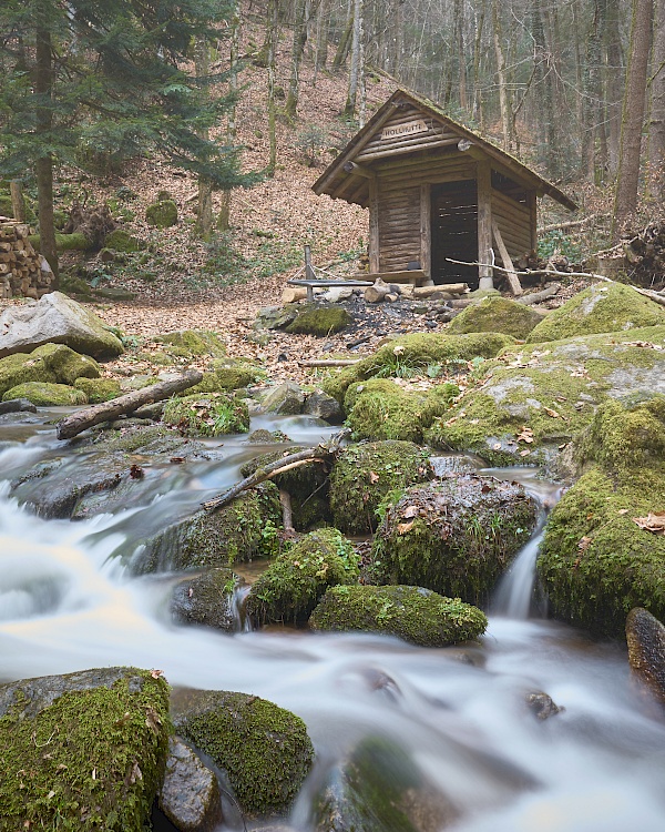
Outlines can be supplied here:
<path id="1" fill-rule="evenodd" d="M 437 385 L 427 393 L 408 393 L 388 378 L 370 378 L 347 390 L 346 424 L 355 439 L 420 443 L 423 432 L 449 409 L 458 394 L 459 388 L 453 384 Z M 348 403 L 352 403 L 350 407 Z"/>

